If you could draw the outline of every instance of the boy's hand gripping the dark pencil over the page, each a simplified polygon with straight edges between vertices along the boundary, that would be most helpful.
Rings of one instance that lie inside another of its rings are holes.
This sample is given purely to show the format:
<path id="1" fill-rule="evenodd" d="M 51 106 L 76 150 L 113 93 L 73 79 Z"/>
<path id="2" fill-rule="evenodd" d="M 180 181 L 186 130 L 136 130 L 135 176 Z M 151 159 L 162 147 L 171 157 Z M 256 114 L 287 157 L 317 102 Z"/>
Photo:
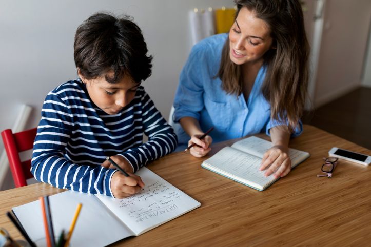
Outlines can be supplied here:
<path id="1" fill-rule="evenodd" d="M 144 188 L 144 183 L 140 176 L 128 173 L 125 177 L 120 171 L 115 172 L 111 179 L 111 191 L 115 198 L 125 198 L 138 193 Z"/>

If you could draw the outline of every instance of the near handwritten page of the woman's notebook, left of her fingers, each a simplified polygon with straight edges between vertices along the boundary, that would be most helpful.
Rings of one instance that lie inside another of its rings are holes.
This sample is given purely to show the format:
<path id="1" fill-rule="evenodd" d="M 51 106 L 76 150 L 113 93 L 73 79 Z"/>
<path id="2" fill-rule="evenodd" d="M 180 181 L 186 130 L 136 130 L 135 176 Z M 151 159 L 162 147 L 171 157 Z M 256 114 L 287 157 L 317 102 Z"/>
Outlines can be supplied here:
<path id="1" fill-rule="evenodd" d="M 205 160 L 203 166 L 206 165 L 222 175 L 262 189 L 265 184 L 276 179 L 273 175 L 265 177 L 264 171 L 259 171 L 260 163 L 260 158 L 231 147 L 225 147 L 211 158 Z"/>

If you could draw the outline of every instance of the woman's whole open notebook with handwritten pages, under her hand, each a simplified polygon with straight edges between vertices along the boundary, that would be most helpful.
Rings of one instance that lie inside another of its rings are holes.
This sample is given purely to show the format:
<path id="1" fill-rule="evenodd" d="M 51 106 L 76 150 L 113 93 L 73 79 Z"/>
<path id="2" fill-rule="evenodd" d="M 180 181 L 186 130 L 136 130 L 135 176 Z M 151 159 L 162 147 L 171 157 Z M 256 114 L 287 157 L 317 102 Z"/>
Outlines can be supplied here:
<path id="1" fill-rule="evenodd" d="M 206 159 L 201 166 L 262 191 L 279 179 L 272 174 L 265 177 L 265 171 L 259 171 L 263 155 L 270 147 L 272 147 L 270 141 L 251 136 L 233 143 L 231 147 L 223 148 L 211 158 Z M 310 155 L 307 152 L 290 148 L 289 156 L 291 168 L 294 168 Z"/>

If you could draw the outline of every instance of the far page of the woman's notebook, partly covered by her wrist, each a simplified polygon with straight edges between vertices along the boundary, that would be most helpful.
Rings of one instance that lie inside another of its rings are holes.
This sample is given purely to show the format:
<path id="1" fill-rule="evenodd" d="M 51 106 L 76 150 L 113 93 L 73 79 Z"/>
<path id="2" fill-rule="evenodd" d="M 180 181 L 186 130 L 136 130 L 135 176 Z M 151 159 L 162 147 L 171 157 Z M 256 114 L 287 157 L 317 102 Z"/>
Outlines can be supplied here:
<path id="1" fill-rule="evenodd" d="M 263 158 L 264 153 L 272 147 L 270 141 L 251 136 L 234 143 L 232 148 Z M 309 157 L 309 153 L 289 148 L 288 156 L 291 159 L 291 167 L 295 167 L 301 161 Z"/>

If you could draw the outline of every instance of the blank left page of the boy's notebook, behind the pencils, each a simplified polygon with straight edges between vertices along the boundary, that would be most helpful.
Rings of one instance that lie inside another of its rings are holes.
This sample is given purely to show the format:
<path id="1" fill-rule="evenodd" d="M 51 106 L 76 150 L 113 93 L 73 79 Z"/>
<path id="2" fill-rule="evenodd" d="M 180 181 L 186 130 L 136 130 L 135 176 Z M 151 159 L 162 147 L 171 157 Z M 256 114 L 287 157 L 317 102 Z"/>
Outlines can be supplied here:
<path id="1" fill-rule="evenodd" d="M 94 195 L 66 191 L 49 196 L 55 236 L 68 231 L 77 204 L 82 203 L 71 238 L 71 246 L 101 247 L 134 234 L 118 220 Z M 45 239 L 40 201 L 14 207 L 14 214 L 34 242 Z M 115 231 L 112 231 L 115 229 Z"/>

